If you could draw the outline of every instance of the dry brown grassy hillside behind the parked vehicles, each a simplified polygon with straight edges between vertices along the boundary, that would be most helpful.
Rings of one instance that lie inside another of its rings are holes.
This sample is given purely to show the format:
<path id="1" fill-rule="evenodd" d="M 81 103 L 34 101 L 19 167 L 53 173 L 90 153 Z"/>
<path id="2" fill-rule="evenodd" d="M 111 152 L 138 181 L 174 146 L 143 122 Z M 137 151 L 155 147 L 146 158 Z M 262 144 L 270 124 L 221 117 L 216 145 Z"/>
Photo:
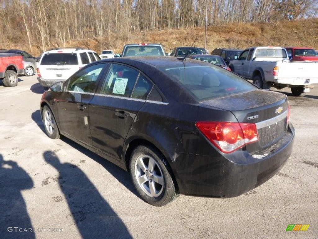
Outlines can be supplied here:
<path id="1" fill-rule="evenodd" d="M 147 31 L 129 33 L 128 39 L 113 33 L 103 39 L 83 39 L 67 42 L 65 45 L 52 47 L 85 47 L 95 50 L 113 49 L 121 53 L 127 43 L 152 42 L 161 43 L 166 52 L 177 46 L 204 47 L 205 28 L 175 29 L 162 31 Z M 318 19 L 298 21 L 283 21 L 277 23 L 242 23 L 207 27 L 206 49 L 211 51 L 216 47 L 252 46 L 306 46 L 318 49 Z M 24 49 L 24 46 L 15 46 Z M 24 49 L 29 51 L 29 49 Z M 34 46 L 33 55 L 40 54 Z"/>

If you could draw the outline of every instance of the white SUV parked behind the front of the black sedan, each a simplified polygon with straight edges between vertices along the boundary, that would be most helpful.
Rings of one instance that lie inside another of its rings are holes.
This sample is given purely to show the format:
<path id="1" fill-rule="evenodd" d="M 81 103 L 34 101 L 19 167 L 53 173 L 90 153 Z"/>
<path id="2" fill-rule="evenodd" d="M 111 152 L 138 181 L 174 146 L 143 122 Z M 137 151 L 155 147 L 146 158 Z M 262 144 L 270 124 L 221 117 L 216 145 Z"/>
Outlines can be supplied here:
<path id="1" fill-rule="evenodd" d="M 38 64 L 38 81 L 48 90 L 52 84 L 66 81 L 90 62 L 100 60 L 99 55 L 83 48 L 56 48 L 42 54 Z"/>

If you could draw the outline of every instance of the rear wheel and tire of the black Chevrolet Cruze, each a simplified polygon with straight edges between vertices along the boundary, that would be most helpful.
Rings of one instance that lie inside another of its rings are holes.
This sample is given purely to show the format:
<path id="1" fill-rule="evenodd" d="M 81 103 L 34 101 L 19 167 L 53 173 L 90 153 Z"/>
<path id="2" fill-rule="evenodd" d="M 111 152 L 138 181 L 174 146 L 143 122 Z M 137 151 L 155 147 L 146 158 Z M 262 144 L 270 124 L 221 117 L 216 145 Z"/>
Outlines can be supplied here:
<path id="1" fill-rule="evenodd" d="M 164 206 L 178 196 L 167 164 L 156 148 L 141 145 L 132 151 L 130 175 L 135 189 L 150 205 Z"/>

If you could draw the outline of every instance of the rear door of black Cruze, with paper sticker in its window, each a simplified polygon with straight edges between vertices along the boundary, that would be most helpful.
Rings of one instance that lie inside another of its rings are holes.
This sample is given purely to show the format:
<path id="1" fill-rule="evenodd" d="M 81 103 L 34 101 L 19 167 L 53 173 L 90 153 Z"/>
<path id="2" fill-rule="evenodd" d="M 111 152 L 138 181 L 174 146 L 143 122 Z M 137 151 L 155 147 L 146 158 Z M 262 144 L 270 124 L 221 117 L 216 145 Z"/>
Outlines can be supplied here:
<path id="1" fill-rule="evenodd" d="M 114 63 L 89 104 L 92 145 L 117 160 L 153 84 L 138 70 Z"/>

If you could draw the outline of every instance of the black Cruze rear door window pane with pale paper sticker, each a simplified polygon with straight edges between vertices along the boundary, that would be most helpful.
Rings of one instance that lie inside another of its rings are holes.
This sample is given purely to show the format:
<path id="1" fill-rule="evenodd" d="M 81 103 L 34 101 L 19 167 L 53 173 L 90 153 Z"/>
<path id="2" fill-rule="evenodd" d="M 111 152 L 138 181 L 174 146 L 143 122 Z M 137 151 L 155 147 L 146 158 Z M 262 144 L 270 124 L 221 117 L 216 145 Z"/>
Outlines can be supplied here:
<path id="1" fill-rule="evenodd" d="M 104 79 L 100 94 L 130 97 L 139 75 L 135 69 L 113 64 Z"/>

